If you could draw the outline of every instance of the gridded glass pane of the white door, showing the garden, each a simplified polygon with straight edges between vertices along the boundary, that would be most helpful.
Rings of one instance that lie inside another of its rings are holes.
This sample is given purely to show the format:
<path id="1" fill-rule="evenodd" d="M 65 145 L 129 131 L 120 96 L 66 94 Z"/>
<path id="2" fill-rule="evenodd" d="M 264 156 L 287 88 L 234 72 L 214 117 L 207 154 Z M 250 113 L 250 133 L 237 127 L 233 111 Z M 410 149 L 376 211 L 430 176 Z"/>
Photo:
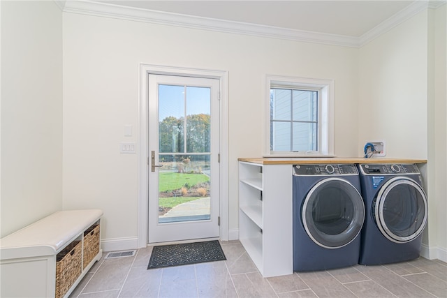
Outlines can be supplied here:
<path id="1" fill-rule="evenodd" d="M 159 221 L 209 221 L 211 90 L 159 85 Z"/>

